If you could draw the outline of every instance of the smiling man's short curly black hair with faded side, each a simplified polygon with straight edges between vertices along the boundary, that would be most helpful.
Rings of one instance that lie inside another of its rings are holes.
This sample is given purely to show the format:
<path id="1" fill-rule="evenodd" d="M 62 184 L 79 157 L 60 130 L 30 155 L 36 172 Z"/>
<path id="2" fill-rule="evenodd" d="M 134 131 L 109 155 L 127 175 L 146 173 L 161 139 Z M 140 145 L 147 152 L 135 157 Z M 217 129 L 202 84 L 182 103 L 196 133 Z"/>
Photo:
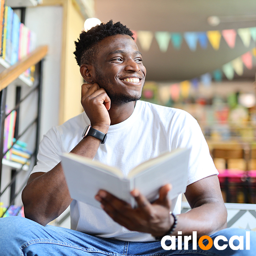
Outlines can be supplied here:
<path id="1" fill-rule="evenodd" d="M 75 41 L 76 51 L 74 54 L 77 64 L 79 66 L 81 64 L 94 64 L 96 45 L 99 41 L 112 35 L 129 35 L 134 39 L 134 33 L 127 26 L 120 22 L 113 23 L 113 20 L 94 26 L 87 32 L 82 31 L 78 41 Z"/>

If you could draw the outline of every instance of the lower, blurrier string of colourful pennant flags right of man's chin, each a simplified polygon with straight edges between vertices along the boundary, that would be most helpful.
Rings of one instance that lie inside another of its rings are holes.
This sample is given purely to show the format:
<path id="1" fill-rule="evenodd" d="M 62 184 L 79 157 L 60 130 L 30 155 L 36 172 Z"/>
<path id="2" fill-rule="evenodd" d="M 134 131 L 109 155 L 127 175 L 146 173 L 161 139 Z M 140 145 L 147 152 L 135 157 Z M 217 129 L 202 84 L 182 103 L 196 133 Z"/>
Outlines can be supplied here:
<path id="1" fill-rule="evenodd" d="M 213 79 L 217 82 L 221 82 L 223 79 L 223 74 L 227 77 L 228 80 L 233 80 L 235 73 L 239 76 L 242 76 L 244 72 L 244 66 L 249 70 L 253 68 L 253 57 L 256 58 L 256 47 L 239 56 L 238 58 L 235 58 L 234 60 L 222 65 L 221 68 L 214 70 L 213 72 L 205 73 L 194 79 L 170 84 L 169 87 L 162 87 L 160 90 L 163 91 L 160 93 L 161 95 L 164 95 L 166 100 L 169 99 L 169 96 L 175 102 L 179 100 L 180 96 L 183 99 L 186 99 L 189 97 L 191 88 L 197 90 L 200 83 L 202 83 L 205 87 L 210 87 Z M 152 89 L 154 90 L 153 87 L 151 88 L 150 84 L 148 88 L 145 87 L 145 98 L 150 99 L 153 97 L 154 92 L 150 93 Z"/>

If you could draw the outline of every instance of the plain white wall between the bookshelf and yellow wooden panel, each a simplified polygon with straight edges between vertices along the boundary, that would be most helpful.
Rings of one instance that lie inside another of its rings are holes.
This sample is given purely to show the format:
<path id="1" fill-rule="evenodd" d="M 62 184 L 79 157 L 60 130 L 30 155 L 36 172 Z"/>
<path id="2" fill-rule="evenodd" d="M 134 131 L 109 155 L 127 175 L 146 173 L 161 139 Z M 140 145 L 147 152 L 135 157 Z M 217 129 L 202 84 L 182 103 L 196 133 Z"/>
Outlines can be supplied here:
<path id="1" fill-rule="evenodd" d="M 58 125 L 62 7 L 40 6 L 26 9 L 25 25 L 37 35 L 37 46 L 47 44 L 48 55 L 44 61 L 41 134 Z"/>

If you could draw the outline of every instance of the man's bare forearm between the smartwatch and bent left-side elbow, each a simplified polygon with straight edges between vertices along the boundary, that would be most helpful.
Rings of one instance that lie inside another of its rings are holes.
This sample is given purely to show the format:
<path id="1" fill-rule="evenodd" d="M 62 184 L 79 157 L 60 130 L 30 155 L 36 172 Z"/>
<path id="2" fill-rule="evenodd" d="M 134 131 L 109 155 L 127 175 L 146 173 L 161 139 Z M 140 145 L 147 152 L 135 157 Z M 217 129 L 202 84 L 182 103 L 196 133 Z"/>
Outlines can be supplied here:
<path id="1" fill-rule="evenodd" d="M 98 139 L 88 136 L 71 152 L 93 159 L 99 145 Z M 64 212 L 72 199 L 61 164 L 58 163 L 49 172 L 32 174 L 23 190 L 22 200 L 26 218 L 42 225 L 46 225 Z"/>

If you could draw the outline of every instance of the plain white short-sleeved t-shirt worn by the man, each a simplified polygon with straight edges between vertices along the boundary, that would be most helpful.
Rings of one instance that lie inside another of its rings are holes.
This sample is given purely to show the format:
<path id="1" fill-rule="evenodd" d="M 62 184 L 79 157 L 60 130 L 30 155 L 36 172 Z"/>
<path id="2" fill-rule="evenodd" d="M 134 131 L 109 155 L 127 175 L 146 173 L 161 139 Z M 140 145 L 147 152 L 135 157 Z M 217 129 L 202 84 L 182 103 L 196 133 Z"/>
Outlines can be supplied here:
<path id="1" fill-rule="evenodd" d="M 90 124 L 85 113 L 53 127 L 41 141 L 34 172 L 48 172 L 60 162 L 60 154 L 70 152 L 82 139 Z M 198 122 L 187 112 L 148 102 L 136 102 L 134 112 L 124 122 L 111 125 L 105 144 L 94 157 L 116 166 L 127 175 L 145 160 L 175 148 L 191 147 L 187 184 L 218 174 Z M 180 213 L 181 195 L 172 201 L 174 213 Z M 129 231 L 114 222 L 102 209 L 73 200 L 70 205 L 71 229 L 124 241 L 153 241 L 147 233 Z"/>

